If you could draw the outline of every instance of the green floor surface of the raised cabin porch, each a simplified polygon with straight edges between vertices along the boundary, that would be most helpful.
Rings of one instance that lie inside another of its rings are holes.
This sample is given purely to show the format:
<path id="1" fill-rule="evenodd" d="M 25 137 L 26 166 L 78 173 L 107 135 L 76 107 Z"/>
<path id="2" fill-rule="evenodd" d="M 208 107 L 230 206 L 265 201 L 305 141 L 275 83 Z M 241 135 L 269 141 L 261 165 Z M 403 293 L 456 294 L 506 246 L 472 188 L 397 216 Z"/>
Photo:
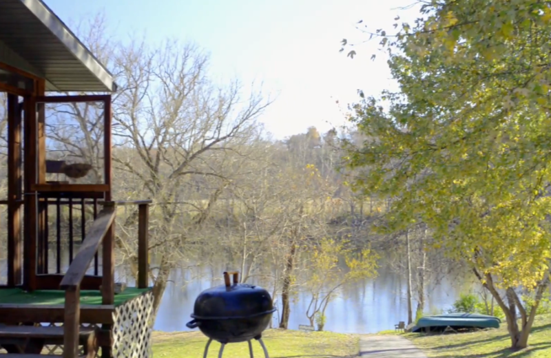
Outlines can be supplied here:
<path id="1" fill-rule="evenodd" d="M 115 295 L 115 306 L 149 291 L 151 288 L 127 287 L 125 291 Z M 61 290 L 37 290 L 32 293 L 21 288 L 0 289 L 0 304 L 64 304 L 65 291 Z M 81 304 L 101 304 L 101 292 L 81 290 Z"/>

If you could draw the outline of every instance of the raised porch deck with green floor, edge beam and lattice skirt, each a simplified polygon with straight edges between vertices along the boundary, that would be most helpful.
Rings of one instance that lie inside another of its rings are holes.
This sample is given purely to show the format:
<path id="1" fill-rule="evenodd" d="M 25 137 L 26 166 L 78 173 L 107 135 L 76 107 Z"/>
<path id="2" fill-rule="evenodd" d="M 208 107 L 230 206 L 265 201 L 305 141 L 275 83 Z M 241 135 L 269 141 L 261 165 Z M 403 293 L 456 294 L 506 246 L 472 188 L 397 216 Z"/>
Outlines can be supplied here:
<path id="1" fill-rule="evenodd" d="M 112 348 L 110 357 L 151 355 L 149 341 L 152 333 L 152 288 L 127 287 L 123 292 L 114 295 L 113 304 L 102 304 L 101 291 L 81 290 L 80 293 L 81 346 L 84 346 L 83 333 L 93 331 L 98 346 Z M 63 337 L 64 319 L 63 290 L 37 290 L 30 293 L 21 288 L 0 289 L 0 333 L 3 325 L 30 322 L 36 326 L 37 322 L 41 322 L 44 332 Z M 8 326 L 4 326 L 4 329 L 11 335 L 18 333 L 12 332 L 13 329 Z M 107 330 L 103 329 L 104 326 Z M 23 326 L 19 328 L 28 329 Z M 32 328 L 32 331 L 38 332 L 37 328 Z M 41 338 L 45 337 L 43 332 L 40 335 Z M 60 337 L 48 337 L 49 339 L 42 341 L 43 345 L 39 347 L 43 348 L 39 348 L 39 351 L 43 354 L 63 354 L 63 339 Z M 13 342 L 13 339 L 0 337 L 0 345 Z M 97 351 L 96 357 L 102 356 L 101 349 Z M 2 352 L 4 350 L 0 346 L 0 357 Z"/>

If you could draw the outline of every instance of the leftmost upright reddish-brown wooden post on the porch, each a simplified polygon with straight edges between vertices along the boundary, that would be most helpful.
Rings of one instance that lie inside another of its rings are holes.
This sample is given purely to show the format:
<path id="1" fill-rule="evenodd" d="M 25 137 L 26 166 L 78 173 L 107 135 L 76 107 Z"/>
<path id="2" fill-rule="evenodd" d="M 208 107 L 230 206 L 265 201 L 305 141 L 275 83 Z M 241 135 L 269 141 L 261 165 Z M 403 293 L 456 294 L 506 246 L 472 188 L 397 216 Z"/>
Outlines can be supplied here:
<path id="1" fill-rule="evenodd" d="M 8 94 L 8 286 L 21 284 L 21 109 Z"/>

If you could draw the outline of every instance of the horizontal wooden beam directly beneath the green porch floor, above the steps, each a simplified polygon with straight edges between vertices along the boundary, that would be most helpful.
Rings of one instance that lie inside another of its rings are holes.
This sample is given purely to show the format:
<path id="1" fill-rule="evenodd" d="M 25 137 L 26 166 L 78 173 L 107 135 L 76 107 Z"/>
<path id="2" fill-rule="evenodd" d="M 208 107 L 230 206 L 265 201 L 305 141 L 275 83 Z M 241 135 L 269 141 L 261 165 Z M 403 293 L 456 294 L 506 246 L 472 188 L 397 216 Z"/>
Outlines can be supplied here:
<path id="1" fill-rule="evenodd" d="M 0 323 L 62 323 L 64 310 L 63 304 L 0 304 Z M 80 323 L 113 324 L 114 310 L 113 305 L 83 304 Z"/>

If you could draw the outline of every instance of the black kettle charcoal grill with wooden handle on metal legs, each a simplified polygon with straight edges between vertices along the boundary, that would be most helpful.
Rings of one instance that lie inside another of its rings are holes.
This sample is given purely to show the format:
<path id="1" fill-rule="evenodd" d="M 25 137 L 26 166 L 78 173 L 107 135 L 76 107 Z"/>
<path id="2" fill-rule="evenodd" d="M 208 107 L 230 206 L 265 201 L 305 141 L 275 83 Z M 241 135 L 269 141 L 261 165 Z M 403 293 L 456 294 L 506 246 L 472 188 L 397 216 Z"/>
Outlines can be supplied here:
<path id="1" fill-rule="evenodd" d="M 233 282 L 230 281 L 230 275 L 233 276 Z M 225 272 L 223 285 L 208 288 L 198 295 L 191 315 L 193 319 L 186 326 L 199 328 L 209 337 L 204 358 L 207 358 L 213 340 L 222 344 L 218 358 L 222 357 L 226 344 L 245 341 L 249 344 L 249 354 L 253 358 L 253 339 L 262 346 L 264 357 L 269 358 L 262 341 L 262 332 L 268 327 L 274 311 L 268 291 L 260 286 L 240 284 L 236 271 Z"/>

